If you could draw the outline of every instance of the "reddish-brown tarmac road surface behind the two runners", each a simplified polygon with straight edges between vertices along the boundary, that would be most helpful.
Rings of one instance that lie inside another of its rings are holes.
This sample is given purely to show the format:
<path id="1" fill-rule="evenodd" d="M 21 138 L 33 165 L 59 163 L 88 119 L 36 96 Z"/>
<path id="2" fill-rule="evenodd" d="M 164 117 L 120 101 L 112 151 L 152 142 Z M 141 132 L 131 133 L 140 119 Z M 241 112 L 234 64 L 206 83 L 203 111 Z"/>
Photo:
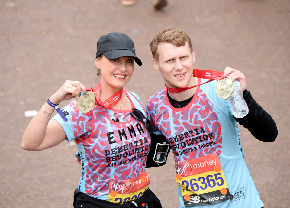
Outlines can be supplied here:
<path id="1" fill-rule="evenodd" d="M 149 43 L 167 27 L 192 38 L 195 68 L 230 66 L 246 75 L 247 89 L 272 115 L 279 135 L 274 143 L 263 143 L 241 127 L 245 161 L 265 208 L 289 206 L 290 1 L 168 2 L 162 11 L 154 11 L 149 0 L 130 7 L 118 0 L 0 2 L 0 207 L 72 207 L 80 177 L 76 145 L 65 141 L 40 152 L 21 149 L 31 120 L 24 112 L 39 110 L 65 80 L 95 86 L 96 43 L 114 31 L 135 42 L 143 66 L 135 64 L 126 88 L 145 104 L 164 87 Z M 173 155 L 164 167 L 147 172 L 163 207 L 178 207 Z"/>

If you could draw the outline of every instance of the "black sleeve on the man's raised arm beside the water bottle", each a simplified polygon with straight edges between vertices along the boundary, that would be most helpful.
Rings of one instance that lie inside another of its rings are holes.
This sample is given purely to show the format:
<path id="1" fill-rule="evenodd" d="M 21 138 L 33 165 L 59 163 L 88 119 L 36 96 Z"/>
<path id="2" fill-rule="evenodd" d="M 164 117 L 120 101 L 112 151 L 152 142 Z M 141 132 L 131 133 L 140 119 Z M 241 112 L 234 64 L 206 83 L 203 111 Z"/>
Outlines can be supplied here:
<path id="1" fill-rule="evenodd" d="M 249 107 L 249 113 L 243 118 L 235 118 L 236 121 L 247 128 L 256 139 L 264 142 L 275 141 L 278 129 L 271 115 L 253 99 L 247 89 L 243 91 L 243 97 Z"/>

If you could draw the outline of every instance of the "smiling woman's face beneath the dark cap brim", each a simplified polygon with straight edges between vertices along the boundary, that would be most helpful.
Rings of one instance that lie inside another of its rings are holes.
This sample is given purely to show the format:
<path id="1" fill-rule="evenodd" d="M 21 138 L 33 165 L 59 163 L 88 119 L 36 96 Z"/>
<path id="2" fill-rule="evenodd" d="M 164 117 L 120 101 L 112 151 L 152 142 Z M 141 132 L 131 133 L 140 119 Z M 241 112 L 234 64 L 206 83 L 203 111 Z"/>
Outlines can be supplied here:
<path id="1" fill-rule="evenodd" d="M 101 71 L 100 82 L 102 89 L 110 91 L 122 89 L 130 80 L 134 71 L 133 57 L 121 57 L 111 60 L 102 55 L 96 59 L 95 64 Z"/>

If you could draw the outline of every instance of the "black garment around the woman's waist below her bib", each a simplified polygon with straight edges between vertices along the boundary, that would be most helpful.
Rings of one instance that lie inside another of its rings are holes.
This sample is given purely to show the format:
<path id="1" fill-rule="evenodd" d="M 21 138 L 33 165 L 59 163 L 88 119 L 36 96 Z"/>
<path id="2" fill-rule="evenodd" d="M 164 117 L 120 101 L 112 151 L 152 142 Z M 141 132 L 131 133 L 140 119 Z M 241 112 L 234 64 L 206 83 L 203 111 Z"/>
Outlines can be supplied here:
<path id="1" fill-rule="evenodd" d="M 145 207 L 142 206 L 144 203 L 148 203 L 148 208 L 162 208 L 159 199 L 149 188 L 139 199 L 129 201 L 124 205 L 91 197 L 78 189 L 75 190 L 73 195 L 74 208 L 143 208 Z"/>

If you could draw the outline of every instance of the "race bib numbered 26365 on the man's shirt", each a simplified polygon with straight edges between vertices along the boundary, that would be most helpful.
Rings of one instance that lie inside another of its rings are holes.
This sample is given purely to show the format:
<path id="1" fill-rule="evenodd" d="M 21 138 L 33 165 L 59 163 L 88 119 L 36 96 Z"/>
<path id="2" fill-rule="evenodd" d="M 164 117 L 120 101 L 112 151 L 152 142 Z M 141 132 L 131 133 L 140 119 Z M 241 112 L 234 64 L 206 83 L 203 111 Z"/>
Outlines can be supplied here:
<path id="1" fill-rule="evenodd" d="M 231 199 L 218 155 L 176 161 L 176 182 L 186 207 Z"/>

